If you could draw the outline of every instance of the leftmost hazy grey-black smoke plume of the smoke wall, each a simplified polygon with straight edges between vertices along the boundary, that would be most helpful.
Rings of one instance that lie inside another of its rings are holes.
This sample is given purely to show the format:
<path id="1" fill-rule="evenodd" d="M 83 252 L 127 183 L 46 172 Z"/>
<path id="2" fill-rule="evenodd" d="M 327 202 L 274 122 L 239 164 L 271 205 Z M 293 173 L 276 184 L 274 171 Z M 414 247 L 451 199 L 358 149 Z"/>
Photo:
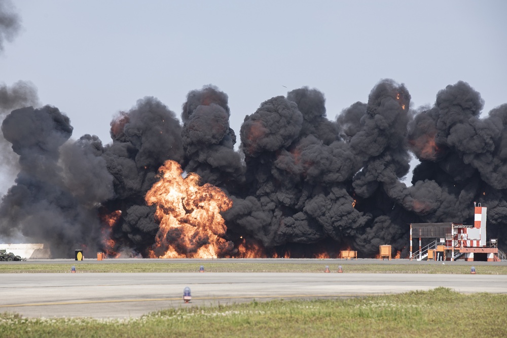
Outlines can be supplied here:
<path id="1" fill-rule="evenodd" d="M 51 106 L 13 110 L 2 123 L 5 139 L 19 155 L 20 171 L 0 206 L 0 232 L 44 239 L 56 256 L 68 254 L 77 244 L 99 243 L 92 196 L 78 196 L 83 186 L 76 182 L 70 189 L 58 164 L 60 146 L 72 130 L 69 119 Z M 77 152 L 76 160 L 80 156 Z"/>

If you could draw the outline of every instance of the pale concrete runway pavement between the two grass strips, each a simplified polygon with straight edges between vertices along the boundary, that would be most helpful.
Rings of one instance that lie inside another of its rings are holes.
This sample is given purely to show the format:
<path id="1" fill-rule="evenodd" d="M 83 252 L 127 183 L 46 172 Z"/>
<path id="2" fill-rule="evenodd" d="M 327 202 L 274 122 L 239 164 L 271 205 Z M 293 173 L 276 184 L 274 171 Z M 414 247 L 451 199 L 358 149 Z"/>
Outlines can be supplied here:
<path id="1" fill-rule="evenodd" d="M 0 312 L 28 317 L 124 318 L 169 307 L 252 299 L 349 297 L 428 290 L 507 293 L 507 275 L 353 273 L 1 274 Z M 184 304 L 183 289 L 192 290 Z"/>

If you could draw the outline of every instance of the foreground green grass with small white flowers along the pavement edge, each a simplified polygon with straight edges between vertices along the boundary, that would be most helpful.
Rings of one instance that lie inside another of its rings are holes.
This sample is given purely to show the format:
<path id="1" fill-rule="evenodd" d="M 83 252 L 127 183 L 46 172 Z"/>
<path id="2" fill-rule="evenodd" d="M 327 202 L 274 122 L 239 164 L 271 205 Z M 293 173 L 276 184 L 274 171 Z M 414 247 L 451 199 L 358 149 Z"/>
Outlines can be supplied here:
<path id="1" fill-rule="evenodd" d="M 0 314 L 2 337 L 505 337 L 507 295 L 447 288 L 315 301 L 186 307 L 124 320 Z"/>

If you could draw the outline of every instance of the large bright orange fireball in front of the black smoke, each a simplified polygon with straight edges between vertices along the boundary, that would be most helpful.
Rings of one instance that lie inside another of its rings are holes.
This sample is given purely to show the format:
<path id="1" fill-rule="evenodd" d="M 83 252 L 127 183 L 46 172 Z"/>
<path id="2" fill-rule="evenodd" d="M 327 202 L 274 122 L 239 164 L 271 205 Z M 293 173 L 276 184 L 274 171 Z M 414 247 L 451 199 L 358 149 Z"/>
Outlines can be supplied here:
<path id="1" fill-rule="evenodd" d="M 166 161 L 159 169 L 160 180 L 146 194 L 148 205 L 156 205 L 160 221 L 151 258 L 216 258 L 232 250 L 233 243 L 222 238 L 227 228 L 220 212 L 232 201 L 218 187 L 199 185 L 200 177 L 183 170 L 177 162 Z"/>

